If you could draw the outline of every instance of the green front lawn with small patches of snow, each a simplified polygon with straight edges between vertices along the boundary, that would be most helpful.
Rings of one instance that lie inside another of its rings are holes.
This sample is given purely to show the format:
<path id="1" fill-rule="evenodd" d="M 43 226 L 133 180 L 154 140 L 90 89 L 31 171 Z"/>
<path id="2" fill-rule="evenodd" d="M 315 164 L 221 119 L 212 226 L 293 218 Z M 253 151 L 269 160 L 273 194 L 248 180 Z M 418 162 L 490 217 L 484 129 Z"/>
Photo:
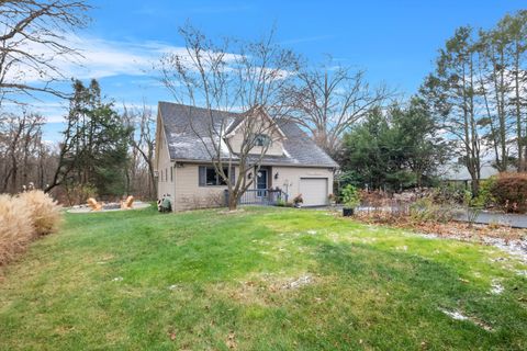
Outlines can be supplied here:
<path id="1" fill-rule="evenodd" d="M 4 269 L 0 349 L 525 350 L 526 270 L 322 211 L 69 214 Z"/>

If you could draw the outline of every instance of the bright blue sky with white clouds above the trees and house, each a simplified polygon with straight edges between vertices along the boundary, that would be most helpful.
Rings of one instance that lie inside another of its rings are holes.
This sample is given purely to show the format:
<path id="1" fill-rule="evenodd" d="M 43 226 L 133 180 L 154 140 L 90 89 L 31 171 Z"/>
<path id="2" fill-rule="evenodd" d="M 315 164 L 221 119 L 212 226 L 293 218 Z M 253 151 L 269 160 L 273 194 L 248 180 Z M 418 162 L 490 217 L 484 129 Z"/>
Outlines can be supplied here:
<path id="1" fill-rule="evenodd" d="M 190 21 L 212 36 L 258 38 L 272 26 L 277 42 L 312 63 L 332 55 L 366 69 L 372 83 L 385 82 L 406 95 L 433 69 L 437 50 L 456 27 L 493 26 L 522 8 L 513 0 L 458 1 L 137 1 L 93 0 L 91 25 L 77 33 L 82 79 L 96 77 L 103 93 L 123 102 L 155 105 L 169 94 L 148 72 L 161 52 L 182 45 L 178 26 Z M 67 104 L 43 98 L 36 110 L 57 138 Z"/>

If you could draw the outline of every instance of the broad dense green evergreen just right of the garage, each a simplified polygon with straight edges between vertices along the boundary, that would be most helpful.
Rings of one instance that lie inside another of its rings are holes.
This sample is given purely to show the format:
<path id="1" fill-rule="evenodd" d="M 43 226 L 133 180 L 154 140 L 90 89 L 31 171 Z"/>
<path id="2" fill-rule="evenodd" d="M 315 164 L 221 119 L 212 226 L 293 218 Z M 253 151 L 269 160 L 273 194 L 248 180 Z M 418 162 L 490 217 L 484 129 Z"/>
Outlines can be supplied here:
<path id="1" fill-rule="evenodd" d="M 423 100 L 413 98 L 405 107 L 375 107 L 344 136 L 345 182 L 391 190 L 422 186 L 434 178 L 447 151 Z"/>

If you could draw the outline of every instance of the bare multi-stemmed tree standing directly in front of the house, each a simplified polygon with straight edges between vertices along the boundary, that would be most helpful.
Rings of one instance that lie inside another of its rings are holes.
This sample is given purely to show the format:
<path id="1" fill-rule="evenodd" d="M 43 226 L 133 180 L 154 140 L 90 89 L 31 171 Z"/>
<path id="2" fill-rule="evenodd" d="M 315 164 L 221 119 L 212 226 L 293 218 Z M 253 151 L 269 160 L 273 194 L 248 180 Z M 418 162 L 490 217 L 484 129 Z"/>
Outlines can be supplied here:
<path id="1" fill-rule="evenodd" d="M 213 43 L 191 25 L 180 29 L 186 43 L 183 54 L 161 58 L 161 82 L 179 103 L 203 106 L 204 125 L 194 121 L 189 109 L 188 128 L 209 154 L 218 177 L 227 185 L 228 207 L 236 208 L 249 189 L 269 146 L 261 135 L 274 135 L 277 124 L 288 114 L 282 93 L 290 89 L 299 69 L 299 58 L 291 50 L 273 44 L 273 33 L 261 41 L 244 43 L 224 39 Z M 216 111 L 240 112 L 218 114 Z M 202 121 L 201 121 L 202 122 Z M 236 127 L 234 127 L 236 126 Z M 236 146 L 229 134 L 239 136 Z M 233 178 L 233 167 L 238 177 Z"/>

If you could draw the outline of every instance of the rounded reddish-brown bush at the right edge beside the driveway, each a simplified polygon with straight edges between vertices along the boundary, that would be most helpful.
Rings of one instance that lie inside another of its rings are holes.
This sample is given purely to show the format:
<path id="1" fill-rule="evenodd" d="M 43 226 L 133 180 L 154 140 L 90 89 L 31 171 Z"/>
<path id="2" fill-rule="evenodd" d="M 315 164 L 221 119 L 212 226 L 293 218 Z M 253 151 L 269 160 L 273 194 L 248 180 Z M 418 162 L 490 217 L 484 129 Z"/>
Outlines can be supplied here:
<path id="1" fill-rule="evenodd" d="M 490 192 L 506 212 L 527 211 L 527 173 L 500 173 Z"/>

